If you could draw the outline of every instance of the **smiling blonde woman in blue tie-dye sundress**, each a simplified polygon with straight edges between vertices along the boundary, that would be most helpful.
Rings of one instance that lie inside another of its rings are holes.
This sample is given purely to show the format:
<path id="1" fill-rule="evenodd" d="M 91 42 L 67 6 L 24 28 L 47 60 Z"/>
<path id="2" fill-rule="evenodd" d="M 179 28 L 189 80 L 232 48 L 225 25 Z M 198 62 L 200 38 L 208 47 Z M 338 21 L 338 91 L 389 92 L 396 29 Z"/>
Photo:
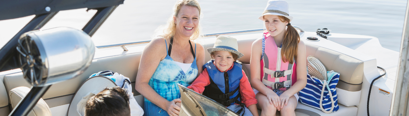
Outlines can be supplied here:
<path id="1" fill-rule="evenodd" d="M 196 0 L 179 0 L 162 35 L 146 45 L 135 89 L 145 97 L 146 116 L 178 116 L 178 84 L 189 86 L 202 72 L 205 50 L 192 40 L 200 36 L 200 6 Z"/>

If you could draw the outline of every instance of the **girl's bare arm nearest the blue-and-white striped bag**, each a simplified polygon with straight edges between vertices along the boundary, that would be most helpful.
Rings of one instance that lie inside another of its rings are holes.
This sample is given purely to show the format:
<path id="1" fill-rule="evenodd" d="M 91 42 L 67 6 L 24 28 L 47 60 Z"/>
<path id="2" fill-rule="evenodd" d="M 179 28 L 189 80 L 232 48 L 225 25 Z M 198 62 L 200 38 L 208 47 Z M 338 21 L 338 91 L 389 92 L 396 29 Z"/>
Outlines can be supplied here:
<path id="1" fill-rule="evenodd" d="M 291 86 L 290 89 L 285 90 L 282 95 L 291 97 L 300 90 L 302 90 L 307 85 L 307 54 L 306 54 L 306 45 L 303 41 L 300 40 L 297 48 L 297 82 Z M 284 97 L 284 96 L 283 96 Z M 281 96 L 280 96 L 281 98 Z M 287 99 L 288 100 L 288 99 Z M 283 102 L 281 102 L 283 103 Z M 285 101 L 287 105 L 287 101 Z M 282 106 L 282 105 L 281 105 Z"/>

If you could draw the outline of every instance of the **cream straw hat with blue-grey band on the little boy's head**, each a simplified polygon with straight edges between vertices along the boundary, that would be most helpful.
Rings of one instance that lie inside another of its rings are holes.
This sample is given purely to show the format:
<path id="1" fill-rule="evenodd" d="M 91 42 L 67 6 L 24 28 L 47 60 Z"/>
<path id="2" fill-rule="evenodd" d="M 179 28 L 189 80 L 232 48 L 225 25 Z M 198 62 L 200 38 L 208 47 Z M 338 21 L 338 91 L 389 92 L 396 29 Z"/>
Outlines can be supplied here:
<path id="1" fill-rule="evenodd" d="M 207 52 L 211 53 L 213 51 L 228 51 L 237 54 L 237 59 L 244 56 L 244 54 L 238 52 L 237 39 L 229 36 L 218 36 L 213 48 L 207 48 Z"/>

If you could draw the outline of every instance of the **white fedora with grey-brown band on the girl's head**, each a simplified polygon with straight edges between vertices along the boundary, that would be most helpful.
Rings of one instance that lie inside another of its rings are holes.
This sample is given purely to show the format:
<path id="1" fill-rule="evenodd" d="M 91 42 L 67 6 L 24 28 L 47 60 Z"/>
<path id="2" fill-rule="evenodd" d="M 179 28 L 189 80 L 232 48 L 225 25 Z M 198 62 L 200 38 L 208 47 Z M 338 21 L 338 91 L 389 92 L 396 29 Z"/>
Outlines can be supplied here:
<path id="1" fill-rule="evenodd" d="M 284 16 L 292 21 L 292 16 L 288 12 L 288 3 L 284 0 L 268 0 L 267 7 L 265 7 L 263 14 L 258 19 L 264 21 L 264 15 Z"/>

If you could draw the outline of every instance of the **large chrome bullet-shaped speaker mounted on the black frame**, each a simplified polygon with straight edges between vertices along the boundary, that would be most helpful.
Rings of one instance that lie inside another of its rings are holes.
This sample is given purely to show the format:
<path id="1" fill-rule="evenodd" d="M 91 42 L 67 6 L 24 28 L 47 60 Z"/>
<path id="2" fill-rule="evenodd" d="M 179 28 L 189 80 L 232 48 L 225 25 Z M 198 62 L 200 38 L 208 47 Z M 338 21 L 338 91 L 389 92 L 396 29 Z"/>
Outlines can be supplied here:
<path id="1" fill-rule="evenodd" d="M 59 27 L 22 34 L 17 51 L 23 77 L 41 87 L 82 74 L 94 58 L 95 46 L 82 30 Z"/>

